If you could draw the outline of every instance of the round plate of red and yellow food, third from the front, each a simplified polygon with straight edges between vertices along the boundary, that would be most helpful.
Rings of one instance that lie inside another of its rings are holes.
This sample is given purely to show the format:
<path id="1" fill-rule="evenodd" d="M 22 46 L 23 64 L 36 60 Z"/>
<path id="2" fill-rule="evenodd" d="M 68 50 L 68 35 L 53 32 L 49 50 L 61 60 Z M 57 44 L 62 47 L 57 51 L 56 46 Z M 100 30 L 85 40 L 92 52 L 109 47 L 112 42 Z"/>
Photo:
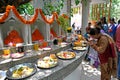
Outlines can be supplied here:
<path id="1" fill-rule="evenodd" d="M 57 53 L 56 55 L 58 58 L 65 59 L 65 60 L 73 59 L 76 56 L 76 54 L 72 51 L 61 51 L 61 52 Z"/>

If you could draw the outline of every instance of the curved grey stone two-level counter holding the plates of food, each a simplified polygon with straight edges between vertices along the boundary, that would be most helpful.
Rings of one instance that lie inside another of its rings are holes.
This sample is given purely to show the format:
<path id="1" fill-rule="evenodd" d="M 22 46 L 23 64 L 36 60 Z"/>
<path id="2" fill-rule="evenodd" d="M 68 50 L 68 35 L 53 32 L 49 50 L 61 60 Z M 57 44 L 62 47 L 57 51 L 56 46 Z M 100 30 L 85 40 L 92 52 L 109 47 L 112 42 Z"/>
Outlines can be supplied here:
<path id="1" fill-rule="evenodd" d="M 56 54 L 62 50 L 72 50 L 71 44 L 65 47 L 60 47 L 58 45 L 53 45 L 50 51 L 31 51 L 26 53 L 24 57 L 20 59 L 9 59 L 7 62 L 4 60 L 0 62 L 0 70 L 8 70 L 17 64 L 22 63 L 37 63 L 39 58 L 48 56 L 50 54 Z M 72 50 L 73 51 L 73 50 Z M 71 60 L 61 60 L 58 59 L 58 65 L 50 69 L 40 69 L 37 68 L 37 72 L 24 79 L 24 80 L 63 80 L 66 76 L 72 73 L 82 62 L 86 54 L 85 51 L 75 51 L 76 57 Z M 6 79 L 8 80 L 8 79 Z M 22 79 L 23 80 L 23 79 Z"/>

